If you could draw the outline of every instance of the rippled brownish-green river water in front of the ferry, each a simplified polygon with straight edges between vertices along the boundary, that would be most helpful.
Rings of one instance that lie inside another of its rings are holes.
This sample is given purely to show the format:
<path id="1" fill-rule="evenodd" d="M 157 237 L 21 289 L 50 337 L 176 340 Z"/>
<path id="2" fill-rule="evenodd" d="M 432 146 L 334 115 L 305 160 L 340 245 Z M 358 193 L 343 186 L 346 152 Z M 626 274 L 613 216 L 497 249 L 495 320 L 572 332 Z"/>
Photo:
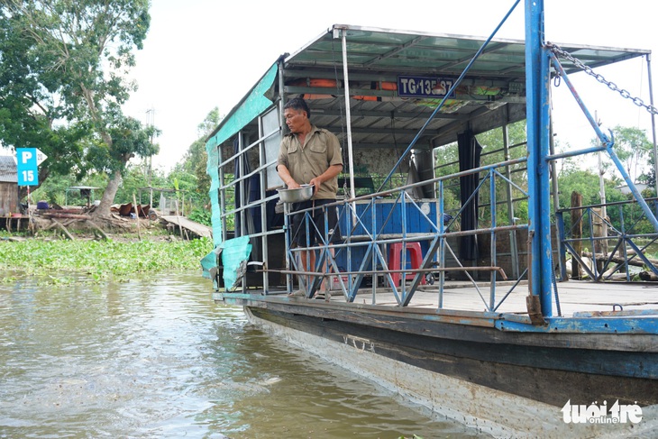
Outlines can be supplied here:
<path id="1" fill-rule="evenodd" d="M 0 283 L 0 437 L 478 437 L 215 305 L 199 274 Z"/>

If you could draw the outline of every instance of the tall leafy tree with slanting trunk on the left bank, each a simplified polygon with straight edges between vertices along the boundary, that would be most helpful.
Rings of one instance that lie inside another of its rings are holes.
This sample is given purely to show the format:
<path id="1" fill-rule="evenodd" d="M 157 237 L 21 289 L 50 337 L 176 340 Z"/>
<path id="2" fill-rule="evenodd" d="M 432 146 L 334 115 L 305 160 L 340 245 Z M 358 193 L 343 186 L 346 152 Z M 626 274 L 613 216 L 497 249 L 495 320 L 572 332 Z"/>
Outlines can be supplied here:
<path id="1" fill-rule="evenodd" d="M 11 80 L 0 83 L 0 98 L 15 105 L 13 113 L 5 112 L 0 133 L 11 126 L 7 121 L 29 124 L 30 119 L 38 128 L 35 134 L 53 131 L 58 121 L 62 129 L 88 130 L 78 146 L 91 161 L 79 159 L 78 164 L 80 169 L 94 164 L 109 173 L 96 209 L 97 216 L 109 217 L 128 160 L 157 151 L 144 142 L 150 139 L 149 130 L 121 112 L 136 87 L 124 78 L 134 65 L 133 50 L 142 49 L 149 30 L 148 0 L 5 0 L 1 11 L 3 64 L 20 71 L 25 80 L 15 89 Z M 34 108 L 41 109 L 38 116 Z M 15 142 L 6 142 L 7 137 L 5 143 Z"/>

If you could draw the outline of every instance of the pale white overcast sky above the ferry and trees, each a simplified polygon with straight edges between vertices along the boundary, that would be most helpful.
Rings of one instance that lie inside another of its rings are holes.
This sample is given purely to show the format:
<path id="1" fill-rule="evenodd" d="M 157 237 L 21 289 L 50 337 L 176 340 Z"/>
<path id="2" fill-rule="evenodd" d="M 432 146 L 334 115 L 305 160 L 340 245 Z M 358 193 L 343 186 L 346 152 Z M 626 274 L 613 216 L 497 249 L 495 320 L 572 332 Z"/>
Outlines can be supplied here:
<path id="1" fill-rule="evenodd" d="M 658 53 L 650 4 L 648 0 L 545 0 L 546 40 Z M 160 128 L 160 154 L 153 165 L 169 170 L 200 136 L 196 127 L 215 106 L 221 115 L 227 114 L 279 55 L 297 51 L 335 23 L 488 37 L 512 5 L 512 0 L 415 0 L 388 6 L 368 0 L 325 4 L 151 0 L 151 29 L 132 71 L 139 89 L 124 112 Z M 524 38 L 523 6 L 521 1 L 497 37 Z M 658 67 L 652 70 L 655 98 Z M 644 58 L 596 71 L 649 103 Z M 636 126 L 652 139 L 646 110 L 584 73 L 570 78 L 604 129 Z M 589 146 L 594 132 L 566 86 L 555 89 L 553 112 L 554 133 L 562 145 Z"/>

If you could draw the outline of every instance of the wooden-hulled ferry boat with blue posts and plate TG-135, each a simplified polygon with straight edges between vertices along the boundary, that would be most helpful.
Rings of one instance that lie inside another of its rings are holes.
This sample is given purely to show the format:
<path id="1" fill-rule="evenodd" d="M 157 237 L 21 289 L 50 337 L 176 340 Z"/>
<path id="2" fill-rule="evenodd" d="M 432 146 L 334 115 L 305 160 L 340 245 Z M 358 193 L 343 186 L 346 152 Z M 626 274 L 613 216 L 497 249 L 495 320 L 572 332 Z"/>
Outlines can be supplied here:
<path id="1" fill-rule="evenodd" d="M 499 27 L 482 38 L 335 24 L 276 59 L 207 139 L 215 250 L 204 274 L 215 300 L 254 324 L 483 433 L 656 435 L 658 296 L 628 274 L 639 260 L 658 275 L 637 243 L 658 237 L 655 200 L 571 81 L 651 52 L 544 41 L 536 1 L 524 41 L 497 38 Z M 554 151 L 558 82 L 599 147 Z M 297 96 L 342 142 L 339 196 L 323 206 L 342 242 L 317 231 L 320 243 L 292 244 L 276 161 L 283 105 Z M 526 138 L 512 142 L 519 124 Z M 500 146 L 483 152 L 492 130 Z M 440 162 L 449 148 L 458 159 Z M 553 163 L 599 151 L 651 233 L 624 225 L 622 208 L 611 220 L 602 206 L 558 205 Z M 311 270 L 298 261 L 309 250 Z M 569 262 L 589 280 L 570 279 Z M 323 280 L 331 297 L 311 298 Z"/>

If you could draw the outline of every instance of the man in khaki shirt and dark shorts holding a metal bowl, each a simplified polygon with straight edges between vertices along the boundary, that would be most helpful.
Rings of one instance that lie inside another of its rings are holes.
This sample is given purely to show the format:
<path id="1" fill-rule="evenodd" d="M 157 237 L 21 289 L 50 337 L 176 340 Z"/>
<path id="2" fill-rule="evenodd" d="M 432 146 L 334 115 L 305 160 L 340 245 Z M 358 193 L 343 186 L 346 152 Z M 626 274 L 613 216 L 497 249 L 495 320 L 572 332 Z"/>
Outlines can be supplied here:
<path id="1" fill-rule="evenodd" d="M 313 197 L 305 202 L 296 203 L 292 210 L 315 208 L 313 222 L 317 230 L 324 233 L 324 212 L 318 206 L 334 203 L 338 191 L 338 174 L 343 170 L 341 143 L 334 133 L 318 128 L 309 118 L 311 110 L 301 97 L 290 99 L 283 106 L 283 115 L 290 133 L 285 135 L 279 149 L 277 172 L 289 189 L 303 184 L 314 186 Z M 308 224 L 308 241 L 306 240 L 305 214 L 293 216 L 293 241 L 299 247 L 315 245 L 315 227 Z M 327 210 L 328 241 L 340 242 L 338 216 L 335 208 Z M 307 243 L 308 242 L 308 243 Z M 333 253 L 333 252 L 332 252 Z M 301 252 L 301 266 L 304 271 L 315 271 L 315 252 Z M 326 267 L 326 261 L 324 263 Z M 307 283 L 308 284 L 308 283 Z M 317 298 L 328 297 L 326 279 L 323 280 Z M 304 295 L 303 290 L 295 295 Z M 326 295 L 326 296 L 325 296 Z"/>

